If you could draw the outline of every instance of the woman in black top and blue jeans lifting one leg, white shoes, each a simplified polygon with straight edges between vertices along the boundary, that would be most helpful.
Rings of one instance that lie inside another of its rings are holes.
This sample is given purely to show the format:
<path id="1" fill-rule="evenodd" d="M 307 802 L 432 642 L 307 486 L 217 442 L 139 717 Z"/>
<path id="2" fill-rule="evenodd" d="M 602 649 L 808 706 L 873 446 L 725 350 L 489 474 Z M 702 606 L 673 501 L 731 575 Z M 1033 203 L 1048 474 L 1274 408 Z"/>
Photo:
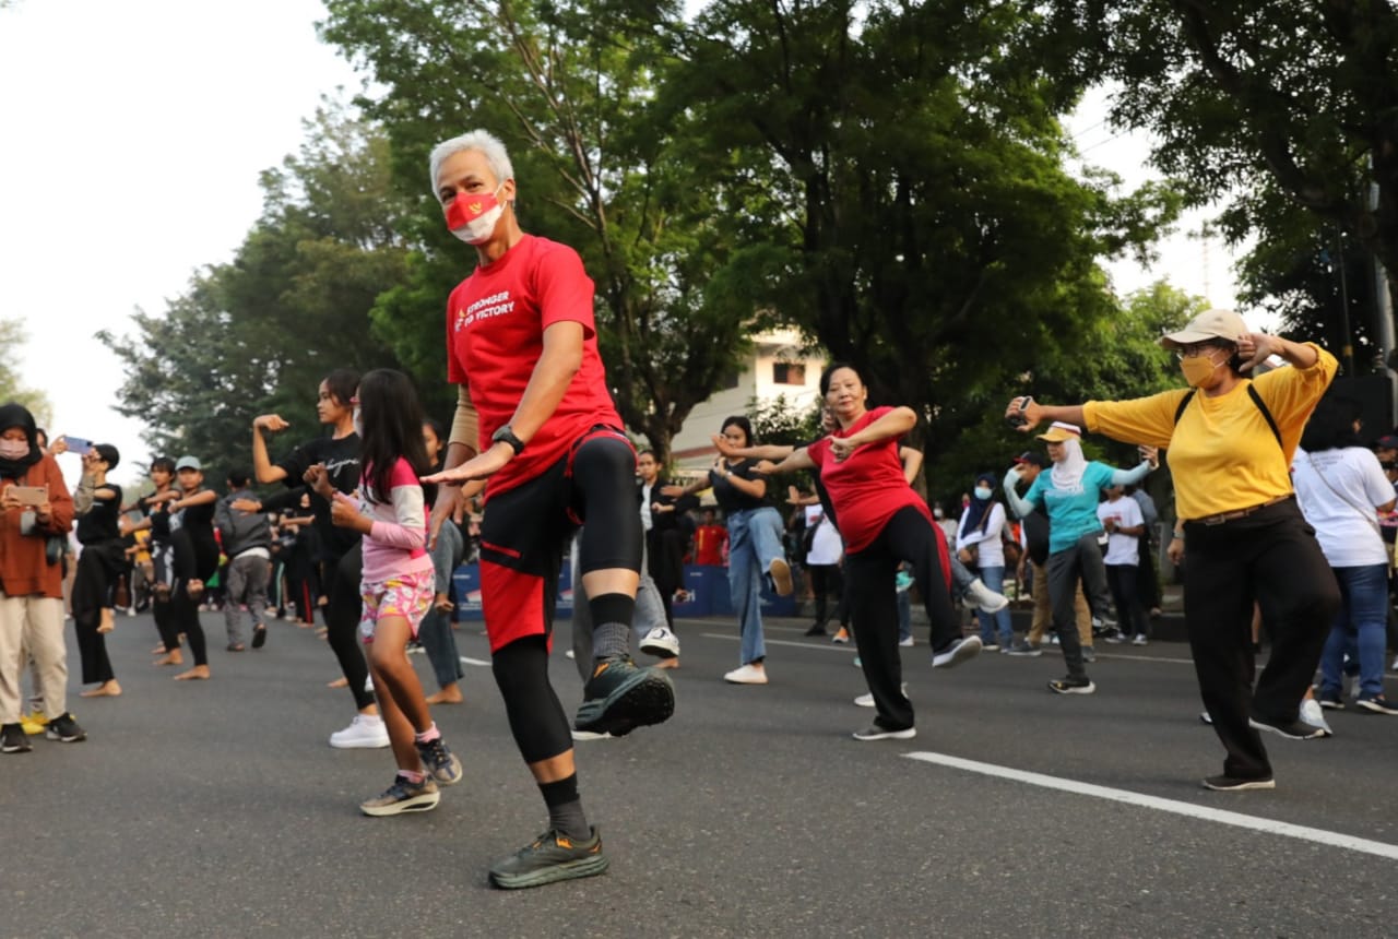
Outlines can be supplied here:
<path id="1" fill-rule="evenodd" d="M 724 418 L 720 433 L 733 447 L 751 447 L 752 423 L 738 415 Z M 723 676 L 733 685 L 766 685 L 768 648 L 762 636 L 759 584 L 770 574 L 779 597 L 791 594 L 791 566 L 781 546 L 781 516 L 766 504 L 768 481 L 756 472 L 755 460 L 719 456 L 707 476 L 688 486 L 665 486 L 671 499 L 713 489 L 713 497 L 728 523 L 728 592 L 738 618 L 741 644 L 738 668 Z"/>

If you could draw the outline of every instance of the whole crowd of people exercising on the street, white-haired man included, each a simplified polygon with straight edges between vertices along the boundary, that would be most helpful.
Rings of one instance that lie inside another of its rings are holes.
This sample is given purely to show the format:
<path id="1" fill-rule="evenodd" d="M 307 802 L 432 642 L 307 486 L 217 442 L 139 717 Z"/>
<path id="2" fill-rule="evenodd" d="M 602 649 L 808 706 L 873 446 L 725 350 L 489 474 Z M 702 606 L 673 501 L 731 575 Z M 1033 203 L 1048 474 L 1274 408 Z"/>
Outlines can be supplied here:
<path id="1" fill-rule="evenodd" d="M 1082 405 L 1015 397 L 1005 416 L 1023 433 L 1047 423 L 1043 451 L 979 475 L 958 518 L 911 485 L 921 454 L 903 442 L 916 412 L 871 402 L 865 376 L 843 362 L 821 379 L 819 436 L 765 446 L 747 418 L 731 416 L 714 437 L 713 467 L 675 483 L 653 451 L 636 451 L 612 405 L 577 253 L 520 228 L 505 147 L 485 131 L 454 137 L 432 151 L 429 173 L 446 226 L 475 257 L 447 299 L 445 377 L 459 394 L 449 426 L 424 416 L 407 376 L 336 369 L 317 390 L 329 433 L 298 433 L 274 458 L 273 439 L 291 428 L 260 415 L 250 470 L 228 472 L 225 492 L 207 485 L 199 457 L 162 457 L 151 463 L 151 488 L 124 500 L 109 478 L 116 447 L 67 437 L 49 446 L 28 411 L 0 407 L 0 750 L 29 750 L 27 728 L 60 742 L 85 736 L 66 699 L 71 567 L 81 693 L 91 697 L 122 694 L 105 646 L 119 606 L 154 612 L 158 665 L 186 665 L 187 646 L 193 661 L 175 675 L 186 682 L 212 675 L 200 612 L 215 591 L 231 654 L 263 648 L 277 611 L 305 626 L 319 613 L 341 669 L 336 683 L 354 706 L 330 745 L 384 748 L 394 760 L 390 785 L 361 810 L 429 810 L 464 771 L 429 708 L 463 700 L 452 572 L 471 552 L 492 674 L 548 815 L 547 831 L 495 864 L 491 882 L 591 876 L 608 861 L 579 795 L 573 742 L 674 713 L 685 558 L 727 566 L 741 643 L 724 680 L 769 683 L 762 587 L 791 595 L 804 569 L 815 601 L 808 634 L 825 636 L 833 619 L 835 641 L 853 637 L 868 683 L 857 703 L 875 715 L 854 739 L 909 739 L 916 720 L 900 650 L 914 643 L 914 590 L 932 668 L 995 650 L 1040 655 L 1051 637 L 1065 674 L 1048 689 L 1090 694 L 1096 636 L 1149 641 L 1158 513 L 1139 485 L 1160 451 L 1174 483 L 1169 556 L 1183 569 L 1205 717 L 1226 753 L 1223 771 L 1202 784 L 1272 788 L 1261 732 L 1320 735 L 1317 714 L 1346 706 L 1350 674 L 1357 708 L 1398 713 L 1383 693 L 1398 523 L 1381 521 L 1394 507 L 1398 437 L 1380 439 L 1377 454 L 1362 446 L 1353 414 L 1325 397 L 1336 363 L 1320 347 L 1209 310 L 1162 340 L 1187 388 Z M 1264 373 L 1269 359 L 1285 367 Z M 1139 464 L 1088 460 L 1085 432 L 1138 446 Z M 71 495 L 56 463 L 69 451 L 81 457 Z M 802 531 L 797 551 L 777 511 L 777 483 L 794 472 L 812 483 L 809 493 L 787 490 Z M 253 483 L 282 490 L 260 496 Z M 700 507 L 705 490 L 714 507 Z M 81 546 L 75 563 L 70 534 Z M 565 552 L 576 572 L 570 654 L 584 682 L 572 720 L 548 672 Z M 1008 583 L 1035 598 L 1021 637 Z M 958 604 L 976 613 L 969 630 Z M 1272 646 L 1261 675 L 1254 609 Z M 414 644 L 432 660 L 431 696 L 407 658 Z M 633 650 L 657 664 L 637 665 Z"/>

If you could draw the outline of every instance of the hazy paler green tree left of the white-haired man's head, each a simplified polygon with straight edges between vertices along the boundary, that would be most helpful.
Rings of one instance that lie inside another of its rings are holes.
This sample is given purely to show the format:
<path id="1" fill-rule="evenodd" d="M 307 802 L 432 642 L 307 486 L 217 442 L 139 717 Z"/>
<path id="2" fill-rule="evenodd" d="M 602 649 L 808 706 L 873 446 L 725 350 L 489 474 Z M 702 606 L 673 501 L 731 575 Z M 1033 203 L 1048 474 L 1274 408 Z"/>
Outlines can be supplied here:
<path id="1" fill-rule="evenodd" d="M 263 175 L 263 215 L 231 263 L 196 274 L 161 314 L 137 312 L 133 335 L 102 334 L 129 363 L 117 409 L 145 421 L 154 453 L 246 465 L 257 414 L 277 411 L 289 437 L 312 437 L 326 373 L 403 367 L 369 317 L 407 265 L 387 141 L 329 103 L 306 133 Z"/>

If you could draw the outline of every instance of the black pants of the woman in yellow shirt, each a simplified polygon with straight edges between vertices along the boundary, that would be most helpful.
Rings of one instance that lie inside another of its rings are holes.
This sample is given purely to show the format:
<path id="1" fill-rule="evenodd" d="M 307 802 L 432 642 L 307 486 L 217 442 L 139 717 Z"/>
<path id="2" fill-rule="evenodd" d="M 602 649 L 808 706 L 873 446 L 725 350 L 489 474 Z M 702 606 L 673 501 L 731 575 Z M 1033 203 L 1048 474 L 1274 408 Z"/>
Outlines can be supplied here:
<path id="1" fill-rule="evenodd" d="M 1223 771 L 1267 778 L 1248 718 L 1295 721 L 1339 609 L 1339 587 L 1295 499 L 1222 525 L 1184 524 L 1184 623 Z M 1253 601 L 1272 654 L 1253 690 Z"/>

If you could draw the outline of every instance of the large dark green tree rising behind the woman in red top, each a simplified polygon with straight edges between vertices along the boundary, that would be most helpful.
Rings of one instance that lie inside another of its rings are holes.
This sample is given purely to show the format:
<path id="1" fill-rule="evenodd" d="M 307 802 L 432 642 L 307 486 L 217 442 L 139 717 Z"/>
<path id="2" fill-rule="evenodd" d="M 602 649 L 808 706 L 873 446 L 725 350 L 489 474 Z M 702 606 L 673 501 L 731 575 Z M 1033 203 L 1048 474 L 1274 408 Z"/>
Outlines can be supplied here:
<path id="1" fill-rule="evenodd" d="M 705 129 L 696 175 L 756 154 L 727 212 L 761 261 L 751 302 L 858 366 L 872 402 L 917 409 L 934 463 L 1118 316 L 1097 260 L 1176 210 L 1065 169 L 1078 84 L 1043 64 L 1026 10 L 726 0 L 668 34 L 664 102 Z"/>

